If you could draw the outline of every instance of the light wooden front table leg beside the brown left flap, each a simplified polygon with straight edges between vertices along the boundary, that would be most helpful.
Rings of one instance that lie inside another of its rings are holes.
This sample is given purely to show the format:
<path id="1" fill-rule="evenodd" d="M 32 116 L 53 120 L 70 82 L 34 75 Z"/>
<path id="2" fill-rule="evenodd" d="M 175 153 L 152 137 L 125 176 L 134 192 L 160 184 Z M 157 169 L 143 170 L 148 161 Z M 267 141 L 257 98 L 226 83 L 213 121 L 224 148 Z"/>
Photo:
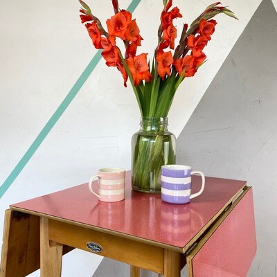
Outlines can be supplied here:
<path id="1" fill-rule="evenodd" d="M 49 240 L 48 219 L 40 218 L 40 276 L 60 277 L 62 274 L 62 244 Z"/>

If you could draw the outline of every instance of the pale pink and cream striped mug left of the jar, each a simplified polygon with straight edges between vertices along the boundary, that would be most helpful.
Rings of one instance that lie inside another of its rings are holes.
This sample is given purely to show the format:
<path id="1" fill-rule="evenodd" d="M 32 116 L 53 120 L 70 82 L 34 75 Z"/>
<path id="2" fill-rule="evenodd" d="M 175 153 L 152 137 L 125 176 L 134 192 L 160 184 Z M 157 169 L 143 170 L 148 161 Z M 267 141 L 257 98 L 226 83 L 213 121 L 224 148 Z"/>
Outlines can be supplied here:
<path id="1" fill-rule="evenodd" d="M 98 178 L 98 193 L 92 189 L 93 180 Z M 89 179 L 89 190 L 102 202 L 118 202 L 125 198 L 125 170 L 123 168 L 101 168 L 98 175 Z"/>

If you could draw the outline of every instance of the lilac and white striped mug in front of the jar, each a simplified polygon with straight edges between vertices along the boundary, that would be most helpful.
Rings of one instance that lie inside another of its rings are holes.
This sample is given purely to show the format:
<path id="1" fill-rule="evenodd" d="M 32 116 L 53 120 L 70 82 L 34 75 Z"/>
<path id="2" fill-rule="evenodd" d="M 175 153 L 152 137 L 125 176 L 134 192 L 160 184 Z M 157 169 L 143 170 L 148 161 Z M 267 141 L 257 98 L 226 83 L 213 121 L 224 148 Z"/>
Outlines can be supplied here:
<path id="1" fill-rule="evenodd" d="M 191 194 L 191 175 L 202 177 L 202 187 Z M 203 193 L 205 176 L 203 172 L 192 171 L 190 166 L 166 165 L 161 167 L 161 199 L 172 204 L 186 204 Z"/>

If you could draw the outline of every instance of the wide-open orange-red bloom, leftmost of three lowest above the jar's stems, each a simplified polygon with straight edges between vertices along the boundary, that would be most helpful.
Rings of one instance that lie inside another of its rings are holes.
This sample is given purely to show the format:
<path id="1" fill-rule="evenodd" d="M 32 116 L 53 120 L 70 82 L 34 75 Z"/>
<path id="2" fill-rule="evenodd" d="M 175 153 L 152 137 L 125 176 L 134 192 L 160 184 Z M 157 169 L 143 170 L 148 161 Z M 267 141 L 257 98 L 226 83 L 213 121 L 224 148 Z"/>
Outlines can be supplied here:
<path id="1" fill-rule="evenodd" d="M 129 71 L 132 74 L 135 86 L 137 86 L 141 82 L 141 80 L 149 82 L 152 78 L 152 75 L 149 72 L 146 55 L 147 54 L 142 53 L 141 55 L 138 55 L 136 57 L 129 56 L 126 60 Z"/>

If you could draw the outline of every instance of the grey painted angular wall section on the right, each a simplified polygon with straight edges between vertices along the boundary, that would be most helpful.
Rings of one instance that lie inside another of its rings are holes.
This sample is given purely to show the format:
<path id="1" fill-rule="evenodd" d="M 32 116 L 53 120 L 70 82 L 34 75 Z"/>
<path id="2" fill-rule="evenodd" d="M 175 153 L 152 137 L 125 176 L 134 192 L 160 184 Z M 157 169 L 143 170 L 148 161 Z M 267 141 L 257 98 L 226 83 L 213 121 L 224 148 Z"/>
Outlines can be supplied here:
<path id="1" fill-rule="evenodd" d="M 248 276 L 277 276 L 276 49 L 277 14 L 264 0 L 177 140 L 178 163 L 253 186 L 258 252 Z"/>

